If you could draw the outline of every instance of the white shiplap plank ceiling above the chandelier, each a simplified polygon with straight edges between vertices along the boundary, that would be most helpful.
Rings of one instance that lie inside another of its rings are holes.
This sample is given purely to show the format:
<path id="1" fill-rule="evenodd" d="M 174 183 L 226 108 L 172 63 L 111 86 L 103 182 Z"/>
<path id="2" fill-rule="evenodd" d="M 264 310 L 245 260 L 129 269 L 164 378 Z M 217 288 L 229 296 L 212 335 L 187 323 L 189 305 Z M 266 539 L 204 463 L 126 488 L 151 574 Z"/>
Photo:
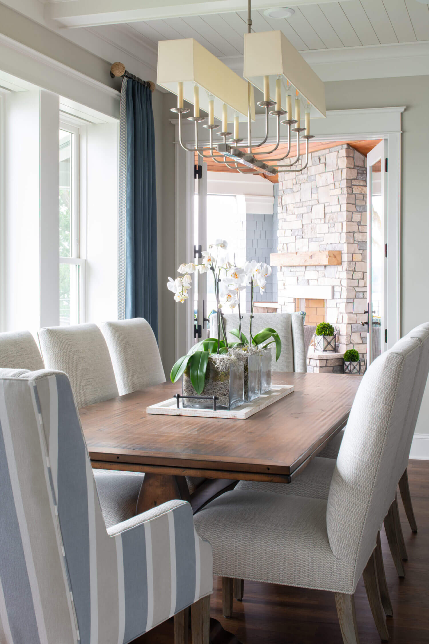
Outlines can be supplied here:
<path id="1" fill-rule="evenodd" d="M 294 10 L 288 19 L 277 20 L 262 10 L 253 11 L 252 28 L 281 29 L 300 52 L 429 41 L 429 6 L 417 0 L 348 0 Z M 195 38 L 217 57 L 237 61 L 247 29 L 246 12 L 133 22 L 129 27 L 154 47 L 160 40 Z"/>

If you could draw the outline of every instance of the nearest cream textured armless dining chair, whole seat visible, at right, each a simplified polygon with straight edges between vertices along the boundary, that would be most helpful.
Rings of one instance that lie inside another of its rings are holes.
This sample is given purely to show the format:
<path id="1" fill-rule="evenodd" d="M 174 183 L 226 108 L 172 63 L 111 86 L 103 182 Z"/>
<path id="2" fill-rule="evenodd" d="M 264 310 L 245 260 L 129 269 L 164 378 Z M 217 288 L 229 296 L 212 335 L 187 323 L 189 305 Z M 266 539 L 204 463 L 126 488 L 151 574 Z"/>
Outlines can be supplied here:
<path id="1" fill-rule="evenodd" d="M 345 644 L 359 641 L 354 591 L 363 574 L 379 634 L 388 639 L 375 551 L 395 495 L 392 470 L 402 458 L 420 348 L 411 338 L 363 376 L 327 498 L 235 488 L 194 516 L 212 544 L 214 574 L 334 592 Z M 225 588 L 224 603 L 232 604 L 232 583 Z"/>

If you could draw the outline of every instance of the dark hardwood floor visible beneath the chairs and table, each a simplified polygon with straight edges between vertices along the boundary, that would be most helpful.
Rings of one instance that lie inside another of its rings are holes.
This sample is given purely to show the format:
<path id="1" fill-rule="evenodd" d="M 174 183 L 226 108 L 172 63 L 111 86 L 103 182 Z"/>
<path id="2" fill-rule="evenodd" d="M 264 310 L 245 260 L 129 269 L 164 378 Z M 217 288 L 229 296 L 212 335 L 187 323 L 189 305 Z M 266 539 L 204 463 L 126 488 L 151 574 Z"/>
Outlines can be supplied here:
<path id="1" fill-rule="evenodd" d="M 429 461 L 410 461 L 410 490 L 419 531 L 414 535 L 401 500 L 399 510 L 408 562 L 405 579 L 397 577 L 384 531 L 381 544 L 390 598 L 394 610 L 388 618 L 390 644 L 429 643 Z M 399 496 L 399 495 L 398 495 Z M 221 583 L 214 580 L 211 616 L 242 644 L 342 644 L 334 596 L 288 586 L 246 582 L 244 600 L 234 601 L 233 617 L 222 616 Z M 356 589 L 356 617 L 360 644 L 379 644 L 363 581 Z M 190 639 L 189 639 L 190 641 Z M 172 644 L 172 620 L 134 640 L 133 644 Z"/>

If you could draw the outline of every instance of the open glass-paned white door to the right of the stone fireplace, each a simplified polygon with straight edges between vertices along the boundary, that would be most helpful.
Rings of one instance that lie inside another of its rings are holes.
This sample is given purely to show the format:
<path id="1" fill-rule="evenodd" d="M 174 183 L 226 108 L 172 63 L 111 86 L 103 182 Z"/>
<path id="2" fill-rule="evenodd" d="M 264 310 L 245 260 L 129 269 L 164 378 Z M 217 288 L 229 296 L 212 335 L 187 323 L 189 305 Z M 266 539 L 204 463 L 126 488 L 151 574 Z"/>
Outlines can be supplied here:
<path id="1" fill-rule="evenodd" d="M 368 337 L 370 365 L 387 349 L 387 142 L 367 156 Z"/>

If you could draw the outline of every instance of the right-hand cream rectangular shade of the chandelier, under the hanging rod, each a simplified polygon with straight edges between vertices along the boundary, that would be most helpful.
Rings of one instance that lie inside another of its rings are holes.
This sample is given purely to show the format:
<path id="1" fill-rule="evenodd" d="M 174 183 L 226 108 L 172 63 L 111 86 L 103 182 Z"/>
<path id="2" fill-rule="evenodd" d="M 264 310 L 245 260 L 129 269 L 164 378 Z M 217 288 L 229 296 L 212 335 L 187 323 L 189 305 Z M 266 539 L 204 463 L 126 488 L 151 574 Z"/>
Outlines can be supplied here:
<path id="1" fill-rule="evenodd" d="M 264 100 L 286 106 L 302 97 L 310 118 L 326 117 L 323 82 L 280 30 L 244 34 L 243 75 Z"/>

